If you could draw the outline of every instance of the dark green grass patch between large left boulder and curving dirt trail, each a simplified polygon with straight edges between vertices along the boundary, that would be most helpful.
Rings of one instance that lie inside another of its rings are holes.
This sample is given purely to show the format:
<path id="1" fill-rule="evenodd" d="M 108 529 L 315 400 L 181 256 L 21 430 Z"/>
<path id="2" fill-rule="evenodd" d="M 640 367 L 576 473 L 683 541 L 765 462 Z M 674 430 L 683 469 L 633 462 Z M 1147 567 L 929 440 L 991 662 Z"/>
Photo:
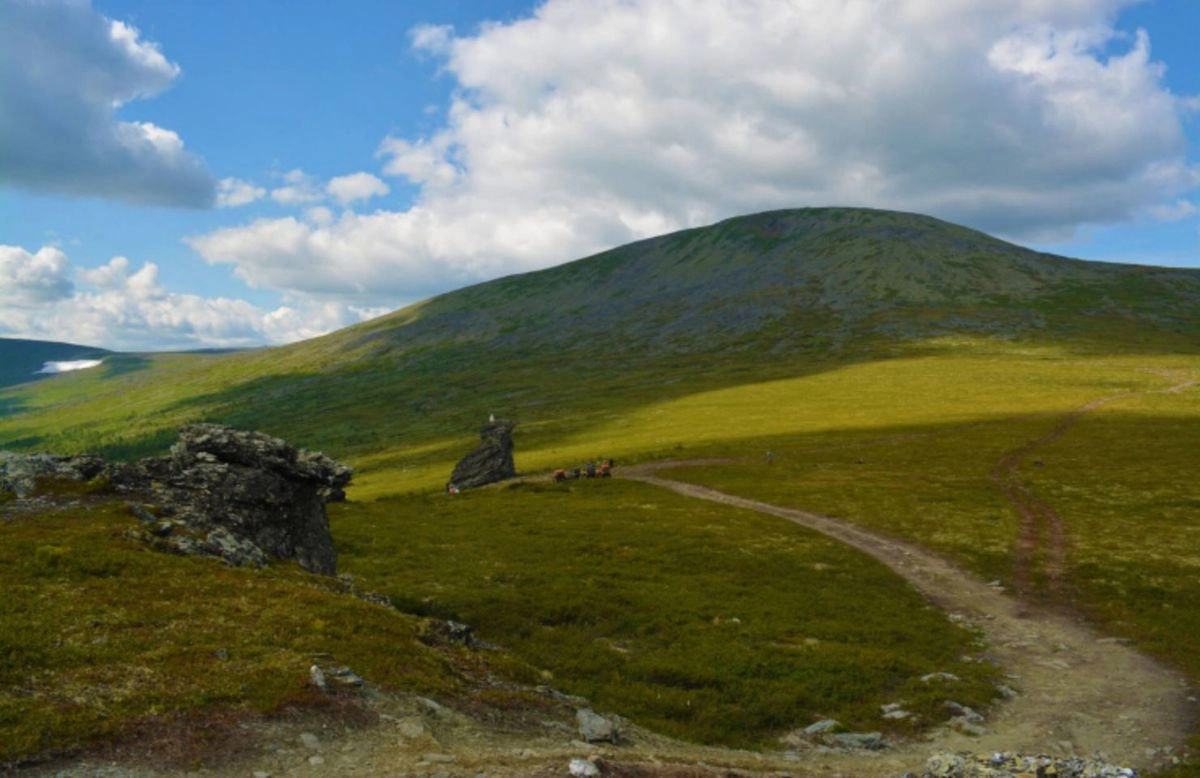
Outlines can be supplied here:
<path id="1" fill-rule="evenodd" d="M 556 686 L 656 730 L 769 746 L 822 718 L 911 732 L 998 670 L 890 570 L 772 516 L 619 479 L 336 505 L 341 564 L 466 621 Z M 947 687 L 920 677 L 952 672 Z M 889 722 L 901 702 L 916 719 Z"/>

